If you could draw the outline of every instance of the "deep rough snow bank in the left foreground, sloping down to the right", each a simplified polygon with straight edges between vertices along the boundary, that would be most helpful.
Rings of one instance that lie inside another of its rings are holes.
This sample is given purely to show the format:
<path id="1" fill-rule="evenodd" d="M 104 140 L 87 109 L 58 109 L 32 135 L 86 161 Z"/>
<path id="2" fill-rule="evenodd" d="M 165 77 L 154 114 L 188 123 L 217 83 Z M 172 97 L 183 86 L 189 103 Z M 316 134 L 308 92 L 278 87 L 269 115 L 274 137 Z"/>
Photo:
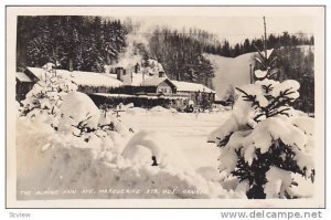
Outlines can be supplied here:
<path id="1" fill-rule="evenodd" d="M 107 113 L 97 116 L 79 93 L 67 95 L 64 104 L 60 123 L 76 125 L 94 113 L 87 117 L 94 130 L 56 132 L 46 123 L 51 115 L 18 118 L 18 191 L 31 192 L 18 199 L 239 197 L 193 170 L 171 137 L 146 130 L 132 136 Z"/>

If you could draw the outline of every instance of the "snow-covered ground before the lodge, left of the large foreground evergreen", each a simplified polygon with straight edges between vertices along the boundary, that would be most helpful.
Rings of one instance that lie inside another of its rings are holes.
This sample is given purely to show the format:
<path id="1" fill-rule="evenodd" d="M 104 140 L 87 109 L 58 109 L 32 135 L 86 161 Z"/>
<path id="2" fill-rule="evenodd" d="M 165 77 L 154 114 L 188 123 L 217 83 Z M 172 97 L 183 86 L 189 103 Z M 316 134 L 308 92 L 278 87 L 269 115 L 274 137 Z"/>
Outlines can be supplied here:
<path id="1" fill-rule="evenodd" d="M 18 199 L 245 197 L 222 187 L 220 149 L 206 144 L 227 112 L 124 107 L 116 117 L 74 92 L 57 116 L 35 108 L 19 117 Z"/>

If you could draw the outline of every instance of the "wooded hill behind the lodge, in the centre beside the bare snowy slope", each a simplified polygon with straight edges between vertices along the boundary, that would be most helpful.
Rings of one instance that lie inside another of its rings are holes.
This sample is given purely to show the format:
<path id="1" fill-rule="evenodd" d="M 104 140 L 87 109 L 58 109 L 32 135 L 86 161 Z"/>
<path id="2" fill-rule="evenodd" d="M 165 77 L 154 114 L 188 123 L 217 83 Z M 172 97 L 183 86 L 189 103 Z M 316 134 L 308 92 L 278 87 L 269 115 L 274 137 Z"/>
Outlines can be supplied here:
<path id="1" fill-rule="evenodd" d="M 213 67 L 202 54 L 212 34 L 197 29 L 190 29 L 189 34 L 157 28 L 149 40 L 147 56 L 162 63 L 172 80 L 202 83 L 212 87 Z"/>

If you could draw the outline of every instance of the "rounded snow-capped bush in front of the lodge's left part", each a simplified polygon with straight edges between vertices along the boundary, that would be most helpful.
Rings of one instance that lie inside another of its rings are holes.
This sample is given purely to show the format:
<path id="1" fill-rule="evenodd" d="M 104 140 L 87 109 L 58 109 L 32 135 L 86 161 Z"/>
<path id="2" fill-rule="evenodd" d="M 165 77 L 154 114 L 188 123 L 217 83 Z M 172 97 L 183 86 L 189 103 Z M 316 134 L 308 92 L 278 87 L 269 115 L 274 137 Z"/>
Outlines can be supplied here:
<path id="1" fill-rule="evenodd" d="M 56 130 L 68 138 L 78 138 L 98 150 L 119 155 L 134 130 L 126 127 L 110 111 L 103 113 L 84 93 L 64 96 Z"/>

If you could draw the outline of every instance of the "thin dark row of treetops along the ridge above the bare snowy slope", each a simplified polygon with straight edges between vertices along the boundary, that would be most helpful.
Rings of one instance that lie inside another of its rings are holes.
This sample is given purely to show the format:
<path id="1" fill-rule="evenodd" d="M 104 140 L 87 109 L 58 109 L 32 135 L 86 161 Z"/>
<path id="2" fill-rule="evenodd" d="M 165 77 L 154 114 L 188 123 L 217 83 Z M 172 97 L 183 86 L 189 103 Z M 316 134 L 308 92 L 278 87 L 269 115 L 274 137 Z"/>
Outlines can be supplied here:
<path id="1" fill-rule="evenodd" d="M 307 38 L 303 34 L 290 35 L 288 32 L 284 32 L 282 35 L 270 34 L 267 39 L 267 49 L 279 49 L 281 46 L 297 46 L 297 45 L 313 45 L 313 36 Z M 216 41 L 213 44 L 206 44 L 204 51 L 206 53 L 217 54 L 227 57 L 236 57 L 244 53 L 256 52 L 256 48 L 263 50 L 261 39 L 245 39 L 244 43 L 236 43 L 234 46 L 229 45 L 225 40 L 222 44 Z"/>

